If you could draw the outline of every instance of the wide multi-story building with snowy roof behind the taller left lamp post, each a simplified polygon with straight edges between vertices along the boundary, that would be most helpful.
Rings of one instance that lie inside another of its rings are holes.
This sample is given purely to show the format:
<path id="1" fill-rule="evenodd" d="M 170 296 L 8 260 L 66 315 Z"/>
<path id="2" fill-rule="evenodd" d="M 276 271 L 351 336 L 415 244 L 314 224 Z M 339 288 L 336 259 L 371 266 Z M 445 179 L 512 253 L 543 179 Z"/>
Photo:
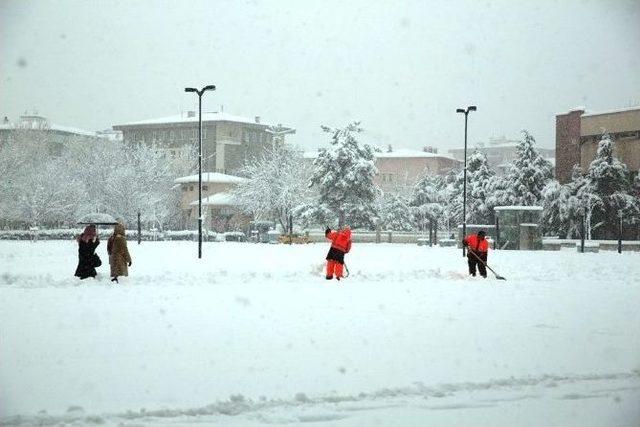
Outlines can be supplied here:
<path id="1" fill-rule="evenodd" d="M 198 114 L 188 111 L 176 116 L 142 120 L 113 126 L 122 131 L 125 143 L 144 143 L 171 156 L 198 150 Z M 293 128 L 263 123 L 224 112 L 202 113 L 202 167 L 219 173 L 235 173 L 244 162 L 263 152 L 274 140 L 284 142 Z"/>

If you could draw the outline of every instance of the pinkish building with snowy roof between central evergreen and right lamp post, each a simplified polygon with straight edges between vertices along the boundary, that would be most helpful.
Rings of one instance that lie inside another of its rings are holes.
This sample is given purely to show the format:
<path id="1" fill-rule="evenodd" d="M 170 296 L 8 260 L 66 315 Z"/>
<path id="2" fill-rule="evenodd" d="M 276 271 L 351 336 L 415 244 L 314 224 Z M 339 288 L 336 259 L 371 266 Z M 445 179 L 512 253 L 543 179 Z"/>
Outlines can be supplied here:
<path id="1" fill-rule="evenodd" d="M 306 161 L 311 162 L 319 151 L 304 153 Z M 373 181 L 385 192 L 410 191 L 425 174 L 444 175 L 452 169 L 461 167 L 461 163 L 449 156 L 437 153 L 436 149 L 425 147 L 423 150 L 392 149 L 376 152 L 375 166 L 378 169 Z"/>

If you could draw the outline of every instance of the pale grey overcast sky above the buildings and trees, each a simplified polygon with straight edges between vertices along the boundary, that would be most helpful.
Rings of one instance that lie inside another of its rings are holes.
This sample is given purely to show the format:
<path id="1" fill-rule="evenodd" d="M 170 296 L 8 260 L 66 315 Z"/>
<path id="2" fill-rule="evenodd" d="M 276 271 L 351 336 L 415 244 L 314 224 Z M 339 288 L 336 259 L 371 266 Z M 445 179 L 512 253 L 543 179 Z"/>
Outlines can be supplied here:
<path id="1" fill-rule="evenodd" d="M 512 6 L 512 4 L 518 4 Z M 526 5 L 522 5 L 522 4 Z M 98 130 L 197 107 L 397 148 L 553 146 L 555 113 L 640 104 L 640 1 L 0 0 L 0 114 Z"/>

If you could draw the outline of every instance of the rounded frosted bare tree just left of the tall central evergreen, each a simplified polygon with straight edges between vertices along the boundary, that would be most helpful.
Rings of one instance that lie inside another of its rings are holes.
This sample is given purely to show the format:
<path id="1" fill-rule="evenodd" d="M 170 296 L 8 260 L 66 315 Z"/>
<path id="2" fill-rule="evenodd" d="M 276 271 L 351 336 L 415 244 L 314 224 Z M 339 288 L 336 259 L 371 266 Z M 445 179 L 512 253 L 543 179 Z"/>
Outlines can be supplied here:
<path id="1" fill-rule="evenodd" d="M 285 145 L 269 147 L 247 163 L 241 174 L 248 178 L 234 191 L 241 208 L 256 219 L 278 221 L 283 230 L 289 228 L 289 216 L 297 217 L 296 208 L 309 200 L 310 171 L 300 153 Z"/>

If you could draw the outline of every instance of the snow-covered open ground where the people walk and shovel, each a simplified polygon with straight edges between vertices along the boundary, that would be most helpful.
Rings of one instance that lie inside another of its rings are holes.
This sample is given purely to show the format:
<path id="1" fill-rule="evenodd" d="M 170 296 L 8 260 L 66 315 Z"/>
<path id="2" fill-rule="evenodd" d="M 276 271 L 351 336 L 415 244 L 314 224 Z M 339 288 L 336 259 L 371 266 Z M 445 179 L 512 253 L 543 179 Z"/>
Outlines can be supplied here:
<path id="1" fill-rule="evenodd" d="M 105 244 L 98 247 L 106 261 Z M 0 242 L 0 424 L 640 425 L 640 254 Z"/>

